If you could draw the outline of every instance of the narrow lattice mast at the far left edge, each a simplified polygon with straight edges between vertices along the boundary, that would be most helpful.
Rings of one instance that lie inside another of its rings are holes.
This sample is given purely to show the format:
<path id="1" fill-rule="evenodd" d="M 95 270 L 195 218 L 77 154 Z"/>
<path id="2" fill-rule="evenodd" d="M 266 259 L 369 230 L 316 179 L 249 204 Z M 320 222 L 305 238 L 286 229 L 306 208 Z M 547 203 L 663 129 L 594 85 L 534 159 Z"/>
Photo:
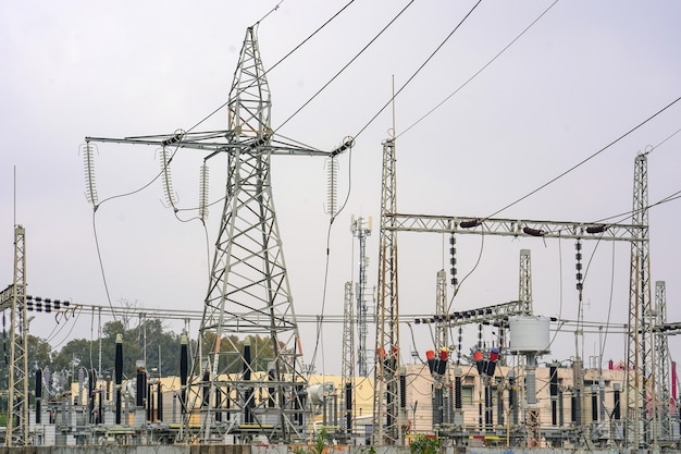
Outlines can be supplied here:
<path id="1" fill-rule="evenodd" d="M 22 225 L 14 226 L 14 278 L 12 285 L 0 292 L 2 319 L 7 312 L 10 319 L 9 357 L 4 345 L 4 360 L 9 366 L 7 446 L 26 446 L 28 437 L 28 356 L 26 341 L 26 231 Z M 3 326 L 4 330 L 4 326 Z"/>

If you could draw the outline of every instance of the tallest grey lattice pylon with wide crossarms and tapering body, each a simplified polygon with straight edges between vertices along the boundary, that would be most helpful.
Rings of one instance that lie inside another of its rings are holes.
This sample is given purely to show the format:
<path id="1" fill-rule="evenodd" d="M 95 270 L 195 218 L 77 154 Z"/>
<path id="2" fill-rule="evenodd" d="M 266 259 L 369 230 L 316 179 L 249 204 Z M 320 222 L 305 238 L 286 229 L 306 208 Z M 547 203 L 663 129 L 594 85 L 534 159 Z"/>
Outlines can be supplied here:
<path id="1" fill-rule="evenodd" d="M 270 442 L 304 440 L 307 378 L 272 201 L 270 161 L 273 156 L 335 158 L 352 140 L 322 151 L 278 139 L 271 126 L 271 93 L 253 27 L 246 32 L 226 106 L 224 131 L 86 137 L 86 147 L 102 142 L 152 145 L 164 151 L 189 148 L 207 152 L 205 163 L 227 156 L 226 197 L 178 437 L 202 443 L 224 441 L 227 434 L 236 440 L 257 434 Z M 249 336 L 268 339 L 269 348 L 250 348 L 248 342 L 242 346 L 239 341 Z"/>

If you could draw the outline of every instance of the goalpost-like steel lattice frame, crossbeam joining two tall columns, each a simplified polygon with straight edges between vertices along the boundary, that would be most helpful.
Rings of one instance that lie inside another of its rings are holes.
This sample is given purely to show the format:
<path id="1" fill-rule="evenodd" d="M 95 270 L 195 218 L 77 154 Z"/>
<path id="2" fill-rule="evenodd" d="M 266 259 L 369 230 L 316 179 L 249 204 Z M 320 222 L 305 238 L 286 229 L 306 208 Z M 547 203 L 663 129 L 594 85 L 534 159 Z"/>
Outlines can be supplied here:
<path id="1" fill-rule="evenodd" d="M 524 236 L 542 238 L 572 238 L 572 240 L 596 240 L 596 241 L 623 241 L 630 242 L 632 247 L 632 273 L 630 277 L 630 323 L 628 332 L 628 345 L 635 346 L 632 351 L 634 355 L 628 355 L 628 369 L 636 367 L 641 357 L 646 358 L 646 354 L 639 354 L 646 351 L 646 335 L 652 336 L 652 326 L 646 332 L 640 323 L 639 309 L 645 309 L 646 300 L 641 298 L 640 285 L 647 281 L 649 273 L 649 262 L 647 260 L 647 216 L 636 213 L 647 212 L 641 209 L 641 196 L 636 194 L 636 188 L 644 186 L 646 189 L 647 203 L 647 172 L 639 170 L 639 159 L 636 159 L 636 171 L 634 173 L 634 218 L 632 224 L 619 223 L 585 223 L 569 221 L 537 221 L 519 219 L 491 219 L 481 217 L 457 217 L 457 216 L 429 216 L 429 214 L 405 214 L 397 212 L 397 184 L 396 184 L 396 154 L 395 139 L 383 142 L 382 162 L 382 186 L 381 186 L 381 232 L 379 245 L 379 300 L 376 302 L 376 354 L 374 381 L 376 390 L 374 392 L 373 406 L 373 442 L 375 444 L 397 444 L 401 441 L 399 428 L 399 306 L 397 285 L 397 232 L 428 232 L 455 234 L 480 234 L 499 236 Z M 643 222 L 645 221 L 645 222 Z M 639 260 L 645 255 L 644 261 Z M 639 261 L 636 261 L 639 260 Z M 639 265 L 634 265 L 634 262 Z M 632 316 L 636 314 L 636 317 Z M 647 355 L 649 356 L 649 355 Z M 646 372 L 647 370 L 647 372 Z M 644 376 L 652 375 L 651 383 L 654 383 L 654 371 L 644 368 Z M 628 373 L 630 377 L 639 377 L 639 373 Z M 628 390 L 632 386 L 628 386 Z M 641 390 L 645 393 L 645 390 Z M 627 400 L 628 405 L 632 405 Z M 629 433 L 635 433 L 639 440 L 639 426 L 631 422 L 640 416 L 640 407 L 633 405 L 633 414 L 629 414 Z M 644 421 L 644 431 L 647 431 L 647 421 Z"/>

